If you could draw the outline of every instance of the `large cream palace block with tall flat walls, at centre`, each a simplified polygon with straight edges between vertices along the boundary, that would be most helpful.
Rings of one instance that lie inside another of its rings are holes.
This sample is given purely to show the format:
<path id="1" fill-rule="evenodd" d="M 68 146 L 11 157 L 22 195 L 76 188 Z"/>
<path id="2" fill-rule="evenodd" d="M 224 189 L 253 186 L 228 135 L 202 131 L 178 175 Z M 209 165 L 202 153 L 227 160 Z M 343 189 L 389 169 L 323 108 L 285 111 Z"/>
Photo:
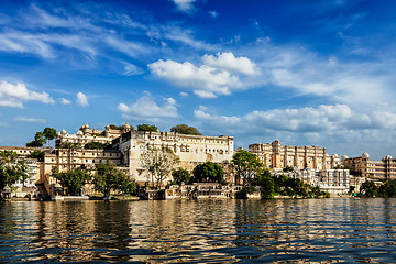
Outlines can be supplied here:
<path id="1" fill-rule="evenodd" d="M 233 155 L 233 136 L 189 135 L 175 132 L 130 131 L 112 143 L 122 154 L 122 163 L 136 182 L 147 180 L 141 156 L 148 147 L 169 147 L 180 158 L 180 166 L 189 172 L 200 163 L 224 164 Z"/>

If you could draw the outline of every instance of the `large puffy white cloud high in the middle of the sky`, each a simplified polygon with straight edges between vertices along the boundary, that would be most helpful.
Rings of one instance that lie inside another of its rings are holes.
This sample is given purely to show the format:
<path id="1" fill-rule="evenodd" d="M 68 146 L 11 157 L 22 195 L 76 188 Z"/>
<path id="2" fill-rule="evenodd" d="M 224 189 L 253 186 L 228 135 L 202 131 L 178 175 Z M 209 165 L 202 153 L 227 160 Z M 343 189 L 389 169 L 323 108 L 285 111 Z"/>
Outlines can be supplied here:
<path id="1" fill-rule="evenodd" d="M 199 97 L 215 98 L 230 95 L 250 85 L 244 78 L 257 73 L 255 64 L 246 57 L 235 57 L 232 53 L 205 55 L 204 64 L 196 66 L 189 62 L 178 63 L 160 59 L 148 64 L 152 74 L 170 84 L 190 89 Z"/>

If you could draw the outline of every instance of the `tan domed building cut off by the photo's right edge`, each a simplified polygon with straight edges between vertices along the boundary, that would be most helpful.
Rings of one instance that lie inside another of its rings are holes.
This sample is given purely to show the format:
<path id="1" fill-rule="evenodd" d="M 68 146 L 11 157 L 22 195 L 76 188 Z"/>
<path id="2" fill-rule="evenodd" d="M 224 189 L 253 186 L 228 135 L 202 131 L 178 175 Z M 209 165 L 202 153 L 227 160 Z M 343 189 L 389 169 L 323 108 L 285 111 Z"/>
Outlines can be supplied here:
<path id="1" fill-rule="evenodd" d="M 350 168 L 353 174 L 364 178 L 394 179 L 396 178 L 396 158 L 387 155 L 381 161 L 370 161 L 370 155 L 364 152 L 359 157 L 342 157 L 342 165 Z"/>

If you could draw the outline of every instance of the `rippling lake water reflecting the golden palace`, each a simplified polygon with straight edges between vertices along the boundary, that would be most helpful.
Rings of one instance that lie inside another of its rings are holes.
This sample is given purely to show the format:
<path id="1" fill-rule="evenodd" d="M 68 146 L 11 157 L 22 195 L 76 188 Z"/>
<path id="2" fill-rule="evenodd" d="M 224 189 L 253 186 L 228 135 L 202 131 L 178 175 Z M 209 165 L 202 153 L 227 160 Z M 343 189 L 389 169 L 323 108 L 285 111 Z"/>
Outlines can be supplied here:
<path id="1" fill-rule="evenodd" d="M 1 263 L 396 263 L 396 199 L 1 202 Z"/>

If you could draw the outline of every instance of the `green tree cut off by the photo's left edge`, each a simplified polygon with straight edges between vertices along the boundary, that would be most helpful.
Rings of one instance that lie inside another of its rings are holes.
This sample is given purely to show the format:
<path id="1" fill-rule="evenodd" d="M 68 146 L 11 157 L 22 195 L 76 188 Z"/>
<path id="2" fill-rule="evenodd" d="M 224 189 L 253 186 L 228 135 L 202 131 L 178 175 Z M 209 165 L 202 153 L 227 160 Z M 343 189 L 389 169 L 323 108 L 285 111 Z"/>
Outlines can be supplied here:
<path id="1" fill-rule="evenodd" d="M 18 154 L 13 151 L 0 151 L 0 190 L 8 185 L 13 188 L 18 180 L 22 183 L 29 177 L 28 166 L 24 161 L 18 158 Z"/>

